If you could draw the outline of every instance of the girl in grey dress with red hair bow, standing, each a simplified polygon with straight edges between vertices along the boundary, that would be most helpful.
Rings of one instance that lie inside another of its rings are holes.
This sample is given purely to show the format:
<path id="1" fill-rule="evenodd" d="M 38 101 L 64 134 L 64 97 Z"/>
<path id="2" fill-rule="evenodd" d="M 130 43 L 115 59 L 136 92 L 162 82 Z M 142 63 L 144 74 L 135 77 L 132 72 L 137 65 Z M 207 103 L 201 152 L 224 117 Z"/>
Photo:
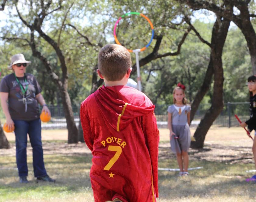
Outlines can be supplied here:
<path id="1" fill-rule="evenodd" d="M 171 149 L 176 153 L 179 176 L 188 175 L 188 149 L 190 147 L 190 105 L 185 97 L 186 87 L 180 83 L 173 90 L 173 105 L 168 111 Z"/>

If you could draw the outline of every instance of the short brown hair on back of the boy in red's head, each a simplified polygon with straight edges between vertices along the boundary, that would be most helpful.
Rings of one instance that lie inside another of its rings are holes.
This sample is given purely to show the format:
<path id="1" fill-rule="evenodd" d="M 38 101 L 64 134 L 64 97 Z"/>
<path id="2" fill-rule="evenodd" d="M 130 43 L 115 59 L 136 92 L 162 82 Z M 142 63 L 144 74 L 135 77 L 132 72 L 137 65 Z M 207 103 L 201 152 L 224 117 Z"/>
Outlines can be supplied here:
<path id="1" fill-rule="evenodd" d="M 98 69 L 107 81 L 120 81 L 131 65 L 130 53 L 122 45 L 107 44 L 99 52 Z"/>

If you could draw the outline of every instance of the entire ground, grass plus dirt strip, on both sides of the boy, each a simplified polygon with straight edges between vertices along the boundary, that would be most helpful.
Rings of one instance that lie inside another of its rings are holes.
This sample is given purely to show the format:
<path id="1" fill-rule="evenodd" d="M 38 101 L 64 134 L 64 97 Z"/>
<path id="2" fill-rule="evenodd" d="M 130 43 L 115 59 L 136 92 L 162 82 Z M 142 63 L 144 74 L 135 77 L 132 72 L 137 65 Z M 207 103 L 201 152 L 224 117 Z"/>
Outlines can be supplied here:
<path id="1" fill-rule="evenodd" d="M 242 128 L 241 128 L 242 129 Z M 240 128 L 212 128 L 203 150 L 190 150 L 190 176 L 159 170 L 160 202 L 167 201 L 255 201 L 256 183 L 246 183 L 254 169 L 252 141 Z M 193 134 L 194 129 L 191 130 Z M 28 184 L 18 182 L 15 148 L 0 150 L 0 201 L 85 201 L 92 202 L 89 172 L 91 153 L 83 143 L 68 145 L 66 131 L 43 132 L 45 167 L 56 183 L 36 183 L 28 147 Z M 45 135 L 44 135 L 45 134 Z M 12 134 L 7 135 L 8 140 Z M 59 136 L 59 138 L 57 138 Z M 51 137 L 53 140 L 51 140 Z M 63 137 L 63 138 L 62 138 Z M 160 131 L 159 167 L 177 168 L 170 152 L 168 130 Z"/>

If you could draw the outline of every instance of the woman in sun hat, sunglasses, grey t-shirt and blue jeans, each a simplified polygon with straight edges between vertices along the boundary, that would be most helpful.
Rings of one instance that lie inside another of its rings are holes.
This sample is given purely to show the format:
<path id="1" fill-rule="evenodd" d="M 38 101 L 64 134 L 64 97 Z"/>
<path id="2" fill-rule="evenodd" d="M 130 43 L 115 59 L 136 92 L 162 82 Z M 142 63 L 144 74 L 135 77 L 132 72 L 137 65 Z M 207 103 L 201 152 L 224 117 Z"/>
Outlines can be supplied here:
<path id="1" fill-rule="evenodd" d="M 8 69 L 13 72 L 2 78 L 0 83 L 1 106 L 6 124 L 9 128 L 13 125 L 15 128 L 16 163 L 20 183 L 28 183 L 27 134 L 33 148 L 34 177 L 37 177 L 37 180 L 55 182 L 44 168 L 38 103 L 43 106 L 42 111 L 50 114 L 50 110 L 41 95 L 36 78 L 30 73 L 25 73 L 30 63 L 23 54 L 12 56 Z"/>

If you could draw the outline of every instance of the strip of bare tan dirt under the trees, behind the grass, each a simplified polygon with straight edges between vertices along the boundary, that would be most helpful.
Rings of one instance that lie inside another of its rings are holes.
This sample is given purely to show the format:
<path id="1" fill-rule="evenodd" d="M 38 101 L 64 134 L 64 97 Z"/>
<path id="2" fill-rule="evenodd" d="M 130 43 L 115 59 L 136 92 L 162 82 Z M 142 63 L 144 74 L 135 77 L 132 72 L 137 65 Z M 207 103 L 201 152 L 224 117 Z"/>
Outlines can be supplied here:
<path id="1" fill-rule="evenodd" d="M 194 129 L 191 129 L 193 134 Z M 12 133 L 7 133 L 8 140 L 15 140 Z M 67 144 L 67 130 L 42 131 L 44 155 L 83 155 L 91 153 L 85 143 Z M 46 141 L 48 140 L 48 141 Z M 49 141 L 50 140 L 50 141 Z M 62 140 L 62 141 L 55 141 Z M 1 149 L 0 155 L 15 156 L 15 143 L 10 149 Z M 227 163 L 254 163 L 251 151 L 252 141 L 242 128 L 211 128 L 206 136 L 203 149 L 189 150 L 190 160 L 207 160 Z M 28 143 L 27 155 L 32 155 L 32 147 Z M 170 150 L 169 130 L 160 130 L 159 159 L 175 158 Z"/>

